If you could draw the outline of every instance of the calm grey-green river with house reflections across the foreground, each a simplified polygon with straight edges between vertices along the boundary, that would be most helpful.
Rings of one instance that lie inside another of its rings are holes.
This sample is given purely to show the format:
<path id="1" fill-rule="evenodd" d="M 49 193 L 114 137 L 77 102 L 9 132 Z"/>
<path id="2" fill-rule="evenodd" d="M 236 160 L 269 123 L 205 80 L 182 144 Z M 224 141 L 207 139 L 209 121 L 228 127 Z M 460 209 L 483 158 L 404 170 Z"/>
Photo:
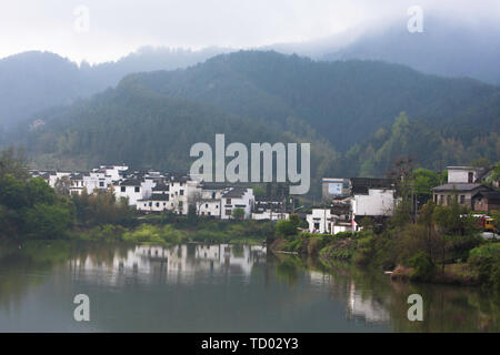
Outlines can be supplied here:
<path id="1" fill-rule="evenodd" d="M 407 317 L 423 297 L 423 322 Z M 77 294 L 90 322 L 76 322 Z M 479 290 L 324 270 L 262 246 L 0 244 L 0 332 L 500 332 Z"/>

